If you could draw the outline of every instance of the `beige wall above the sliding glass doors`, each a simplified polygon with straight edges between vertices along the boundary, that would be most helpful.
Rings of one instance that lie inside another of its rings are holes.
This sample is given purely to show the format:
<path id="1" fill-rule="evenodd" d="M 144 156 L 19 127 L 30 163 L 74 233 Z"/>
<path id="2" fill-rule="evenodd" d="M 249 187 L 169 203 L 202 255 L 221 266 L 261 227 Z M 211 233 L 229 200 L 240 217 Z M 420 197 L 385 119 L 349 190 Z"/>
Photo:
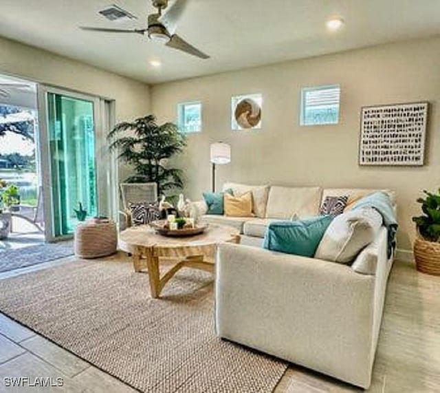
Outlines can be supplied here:
<path id="1" fill-rule="evenodd" d="M 0 73 L 115 100 L 116 121 L 149 114 L 148 85 L 0 37 Z M 129 171 L 122 168 L 120 179 Z"/>

